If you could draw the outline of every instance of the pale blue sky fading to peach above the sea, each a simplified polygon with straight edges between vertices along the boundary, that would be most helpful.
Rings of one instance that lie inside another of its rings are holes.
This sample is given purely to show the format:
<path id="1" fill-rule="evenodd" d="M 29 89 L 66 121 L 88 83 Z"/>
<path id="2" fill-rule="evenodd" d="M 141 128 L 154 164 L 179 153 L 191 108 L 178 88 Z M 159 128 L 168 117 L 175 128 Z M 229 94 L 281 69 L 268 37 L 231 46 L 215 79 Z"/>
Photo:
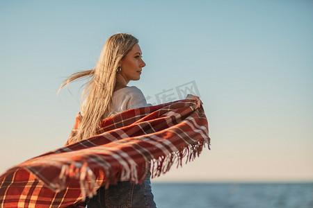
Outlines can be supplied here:
<path id="1" fill-rule="evenodd" d="M 211 150 L 152 182 L 313 182 L 312 1 L 1 1 L 0 173 L 65 145 L 107 38 L 139 40 L 148 103 L 198 89 Z M 180 88 L 179 88 L 180 87 Z"/>

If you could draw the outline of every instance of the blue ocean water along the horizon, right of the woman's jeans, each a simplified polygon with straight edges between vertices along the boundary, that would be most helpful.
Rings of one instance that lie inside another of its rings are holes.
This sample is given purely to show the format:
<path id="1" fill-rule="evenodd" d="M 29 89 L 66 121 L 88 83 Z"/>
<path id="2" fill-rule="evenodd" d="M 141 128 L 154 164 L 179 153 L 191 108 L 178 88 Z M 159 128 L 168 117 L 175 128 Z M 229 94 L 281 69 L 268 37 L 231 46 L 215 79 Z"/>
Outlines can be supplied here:
<path id="1" fill-rule="evenodd" d="M 313 207 L 313 183 L 153 183 L 152 191 L 158 208 Z"/>

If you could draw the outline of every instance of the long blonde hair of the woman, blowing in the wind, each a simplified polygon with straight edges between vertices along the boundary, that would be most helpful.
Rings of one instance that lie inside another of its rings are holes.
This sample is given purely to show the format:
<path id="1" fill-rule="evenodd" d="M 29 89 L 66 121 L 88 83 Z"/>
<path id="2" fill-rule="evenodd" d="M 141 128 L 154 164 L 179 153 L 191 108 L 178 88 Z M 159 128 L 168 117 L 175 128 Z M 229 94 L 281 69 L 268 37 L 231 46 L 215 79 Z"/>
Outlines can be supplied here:
<path id="1" fill-rule="evenodd" d="M 61 84 L 58 92 L 74 80 L 89 79 L 81 95 L 83 119 L 72 141 L 81 141 L 96 135 L 99 121 L 109 116 L 116 83 L 116 69 L 120 60 L 131 51 L 135 44 L 138 44 L 138 39 L 132 35 L 126 33 L 112 35 L 104 44 L 94 69 L 73 73 Z"/>

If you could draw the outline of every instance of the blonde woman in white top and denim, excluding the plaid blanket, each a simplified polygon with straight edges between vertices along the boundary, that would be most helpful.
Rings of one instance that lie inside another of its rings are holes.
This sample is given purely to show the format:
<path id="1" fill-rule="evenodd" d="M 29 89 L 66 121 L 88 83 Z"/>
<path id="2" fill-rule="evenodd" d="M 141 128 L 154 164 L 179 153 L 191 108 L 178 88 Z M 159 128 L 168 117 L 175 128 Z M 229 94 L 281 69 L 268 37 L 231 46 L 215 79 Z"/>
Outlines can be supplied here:
<path id="1" fill-rule="evenodd" d="M 145 67 L 141 55 L 136 37 L 125 33 L 112 35 L 104 44 L 95 69 L 74 73 L 63 82 L 61 88 L 73 80 L 89 78 L 82 96 L 81 125 L 70 136 L 69 144 L 96 135 L 101 119 L 148 105 L 140 89 L 127 87 L 130 80 L 140 79 Z M 197 101 L 197 107 L 202 103 L 198 96 L 188 95 L 186 98 Z M 119 182 L 109 189 L 101 187 L 89 200 L 88 207 L 156 207 L 150 175 L 147 171 L 142 184 Z"/>

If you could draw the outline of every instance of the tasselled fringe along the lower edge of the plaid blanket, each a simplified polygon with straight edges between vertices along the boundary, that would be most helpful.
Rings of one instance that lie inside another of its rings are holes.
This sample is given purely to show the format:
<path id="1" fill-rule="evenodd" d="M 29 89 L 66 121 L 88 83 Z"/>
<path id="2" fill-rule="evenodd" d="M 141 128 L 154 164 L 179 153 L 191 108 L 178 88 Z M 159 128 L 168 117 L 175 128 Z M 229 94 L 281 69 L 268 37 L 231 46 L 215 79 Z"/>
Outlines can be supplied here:
<path id="1" fill-rule="evenodd" d="M 157 158 L 152 158 L 152 164 L 150 166 L 152 178 L 159 177 L 162 173 L 170 171 L 172 164 L 177 164 L 177 168 L 182 166 L 182 160 L 186 157 L 186 162 L 193 161 L 195 157 L 199 157 L 202 152 L 202 148 L 205 147 L 205 144 L 209 147 L 209 138 L 204 141 L 196 141 L 195 144 L 190 144 L 184 148 L 179 149 L 177 152 L 172 152 L 166 156 L 159 156 Z M 142 178 L 138 178 L 138 166 L 136 163 L 131 163 L 130 166 L 127 164 L 122 164 L 122 169 L 120 173 L 121 181 L 131 181 L 136 184 L 143 182 L 145 175 L 147 173 L 147 167 L 149 162 L 145 162 L 145 173 Z M 104 182 L 104 186 L 109 188 L 109 185 L 112 181 L 114 181 L 114 171 L 111 168 L 104 167 L 104 177 L 106 181 Z M 95 174 L 89 168 L 88 164 L 85 162 L 81 164 L 80 162 L 73 162 L 72 164 L 64 164 L 61 169 L 61 173 L 59 175 L 59 179 L 61 182 L 60 190 L 65 188 L 65 180 L 66 176 L 79 179 L 79 185 L 81 188 L 81 197 L 82 201 L 86 200 L 86 197 L 92 198 L 97 193 L 97 188 L 99 184 L 96 182 Z"/>

